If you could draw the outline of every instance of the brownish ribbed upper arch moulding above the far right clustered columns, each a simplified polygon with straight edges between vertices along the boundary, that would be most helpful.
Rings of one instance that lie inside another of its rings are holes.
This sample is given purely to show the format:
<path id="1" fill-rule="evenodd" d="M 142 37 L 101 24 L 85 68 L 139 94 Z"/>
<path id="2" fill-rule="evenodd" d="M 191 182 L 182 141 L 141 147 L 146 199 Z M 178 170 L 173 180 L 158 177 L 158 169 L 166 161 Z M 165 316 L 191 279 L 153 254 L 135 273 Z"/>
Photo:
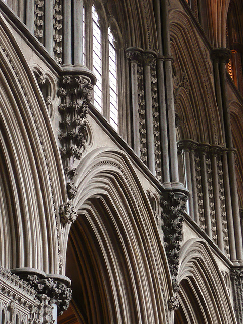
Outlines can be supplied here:
<path id="1" fill-rule="evenodd" d="M 169 13 L 169 20 L 172 54 L 175 56 L 174 71 L 183 71 L 181 75 L 176 75 L 177 85 L 174 84 L 174 88 L 177 87 L 176 93 L 179 91 L 178 87 L 185 88 L 187 101 L 189 100 L 190 104 L 188 107 L 183 107 L 184 115 L 192 118 L 188 121 L 183 120 L 182 133 L 193 132 L 190 134 L 191 139 L 198 142 L 220 144 L 222 143 L 220 119 L 214 108 L 217 104 L 212 95 L 213 85 L 208 73 L 208 60 L 204 57 L 205 51 L 199 50 L 200 44 L 197 42 L 197 36 L 185 13 L 172 10 Z M 175 101 L 176 99 L 180 100 L 180 96 L 175 98 Z M 180 111 L 181 104 L 177 103 L 176 106 L 179 117 L 183 119 L 183 112 Z M 190 107 L 191 110 L 189 110 Z M 186 127 L 189 129 L 186 130 Z"/>

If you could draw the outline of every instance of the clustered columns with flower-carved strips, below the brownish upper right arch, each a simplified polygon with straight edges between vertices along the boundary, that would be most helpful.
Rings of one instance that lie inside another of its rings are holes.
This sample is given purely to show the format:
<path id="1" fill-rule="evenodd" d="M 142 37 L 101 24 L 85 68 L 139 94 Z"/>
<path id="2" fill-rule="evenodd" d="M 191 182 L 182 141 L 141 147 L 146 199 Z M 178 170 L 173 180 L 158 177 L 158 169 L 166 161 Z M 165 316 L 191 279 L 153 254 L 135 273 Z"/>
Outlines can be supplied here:
<path id="1" fill-rule="evenodd" d="M 236 237 L 238 222 L 234 222 L 232 216 L 228 177 L 228 158 L 232 149 L 181 140 L 178 153 L 183 155 L 185 183 L 190 190 L 189 215 L 237 264 L 236 244 L 241 236 Z"/>

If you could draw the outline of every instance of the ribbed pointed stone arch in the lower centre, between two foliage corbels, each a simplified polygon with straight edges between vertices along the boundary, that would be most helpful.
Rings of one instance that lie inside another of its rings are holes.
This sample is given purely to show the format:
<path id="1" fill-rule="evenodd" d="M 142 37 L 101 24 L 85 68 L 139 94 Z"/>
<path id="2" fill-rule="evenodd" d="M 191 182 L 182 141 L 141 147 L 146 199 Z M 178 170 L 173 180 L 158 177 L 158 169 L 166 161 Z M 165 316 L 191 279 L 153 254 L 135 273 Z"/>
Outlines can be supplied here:
<path id="1" fill-rule="evenodd" d="M 163 243 L 149 200 L 126 154 L 97 148 L 83 158 L 77 171 L 78 193 L 73 204 L 78 217 L 71 229 L 70 224 L 65 225 L 65 239 L 70 229 L 74 254 L 79 259 L 78 251 L 85 246 L 81 259 L 88 254 L 91 263 L 93 260 L 91 269 L 101 274 L 97 282 L 102 287 L 95 296 L 102 291 L 104 305 L 111 304 L 105 320 L 169 323 L 167 301 L 172 288 Z M 77 262 L 81 267 L 88 264 Z M 73 270 L 68 265 L 66 274 L 72 279 L 76 274 L 69 274 Z M 79 277 L 85 280 L 86 276 Z M 82 281 L 82 287 L 87 282 L 90 279 Z M 89 304 L 93 303 L 89 300 Z"/>

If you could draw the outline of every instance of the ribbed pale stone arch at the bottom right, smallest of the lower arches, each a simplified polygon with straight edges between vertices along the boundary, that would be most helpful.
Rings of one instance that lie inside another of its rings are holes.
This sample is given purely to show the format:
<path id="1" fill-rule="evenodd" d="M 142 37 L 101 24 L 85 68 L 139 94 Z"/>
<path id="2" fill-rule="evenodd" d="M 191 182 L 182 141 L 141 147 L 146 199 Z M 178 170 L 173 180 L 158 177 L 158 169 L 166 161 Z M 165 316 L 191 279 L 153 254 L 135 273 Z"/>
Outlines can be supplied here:
<path id="1" fill-rule="evenodd" d="M 181 306 L 175 318 L 184 316 L 185 322 L 190 323 L 189 318 L 195 319 L 201 313 L 201 323 L 236 324 L 228 288 L 203 239 L 191 238 L 181 247 L 178 282 Z"/>

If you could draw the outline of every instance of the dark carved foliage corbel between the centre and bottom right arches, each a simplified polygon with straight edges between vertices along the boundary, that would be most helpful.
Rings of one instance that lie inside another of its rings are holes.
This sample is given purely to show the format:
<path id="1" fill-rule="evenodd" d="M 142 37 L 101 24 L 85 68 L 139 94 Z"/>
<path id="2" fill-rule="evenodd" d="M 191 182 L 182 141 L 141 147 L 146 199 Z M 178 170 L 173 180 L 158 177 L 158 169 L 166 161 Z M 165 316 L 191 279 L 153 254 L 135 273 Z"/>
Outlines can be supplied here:
<path id="1" fill-rule="evenodd" d="M 174 291 L 178 291 L 176 276 L 179 266 L 180 242 L 187 196 L 183 194 L 165 192 L 160 199 L 162 209 L 161 219 L 164 233 L 164 246 L 169 263 Z"/>

